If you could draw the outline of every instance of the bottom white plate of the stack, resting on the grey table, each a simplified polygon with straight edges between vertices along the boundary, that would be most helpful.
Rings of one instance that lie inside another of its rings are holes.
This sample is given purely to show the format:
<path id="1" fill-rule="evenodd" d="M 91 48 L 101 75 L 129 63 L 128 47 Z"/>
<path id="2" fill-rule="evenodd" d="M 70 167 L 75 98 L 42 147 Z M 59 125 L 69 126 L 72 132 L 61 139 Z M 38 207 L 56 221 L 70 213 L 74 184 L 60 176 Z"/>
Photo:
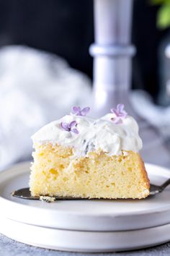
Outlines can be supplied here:
<path id="1" fill-rule="evenodd" d="M 0 219 L 0 232 L 18 242 L 74 252 L 114 252 L 151 247 L 170 240 L 170 224 L 134 231 L 70 231 Z"/>

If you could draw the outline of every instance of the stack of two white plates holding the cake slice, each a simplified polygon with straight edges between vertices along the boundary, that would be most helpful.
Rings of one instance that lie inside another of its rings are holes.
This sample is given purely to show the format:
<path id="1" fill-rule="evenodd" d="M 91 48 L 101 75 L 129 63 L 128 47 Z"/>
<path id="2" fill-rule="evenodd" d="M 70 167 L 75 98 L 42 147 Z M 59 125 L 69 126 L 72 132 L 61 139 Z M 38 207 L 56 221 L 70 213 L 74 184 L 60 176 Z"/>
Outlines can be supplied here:
<path id="1" fill-rule="evenodd" d="M 169 170 L 146 164 L 153 184 Z M 58 200 L 53 203 L 12 197 L 28 187 L 30 164 L 0 173 L 0 232 L 37 247 L 111 252 L 140 249 L 170 240 L 170 189 L 145 200 Z"/>

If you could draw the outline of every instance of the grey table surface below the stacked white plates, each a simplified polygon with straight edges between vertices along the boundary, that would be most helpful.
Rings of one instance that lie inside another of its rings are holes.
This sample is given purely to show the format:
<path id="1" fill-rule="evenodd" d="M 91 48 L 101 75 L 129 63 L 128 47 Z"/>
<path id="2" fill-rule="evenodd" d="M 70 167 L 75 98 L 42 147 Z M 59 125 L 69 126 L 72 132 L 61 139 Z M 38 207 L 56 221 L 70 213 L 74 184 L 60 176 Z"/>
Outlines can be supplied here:
<path id="1" fill-rule="evenodd" d="M 22 244 L 16 242 L 12 239 L 7 238 L 0 234 L 0 255 L 1 256 L 89 256 L 89 255 L 99 255 L 99 256 L 112 256 L 112 255 L 120 255 L 120 256 L 162 256 L 162 255 L 170 255 L 170 242 L 166 244 L 162 244 L 157 247 L 152 247 L 149 249 L 141 249 L 133 252 L 113 252 L 113 253 L 76 253 L 76 252 L 59 252 L 53 251 L 50 249 L 42 249 L 37 247 L 32 247 L 27 244 Z"/>

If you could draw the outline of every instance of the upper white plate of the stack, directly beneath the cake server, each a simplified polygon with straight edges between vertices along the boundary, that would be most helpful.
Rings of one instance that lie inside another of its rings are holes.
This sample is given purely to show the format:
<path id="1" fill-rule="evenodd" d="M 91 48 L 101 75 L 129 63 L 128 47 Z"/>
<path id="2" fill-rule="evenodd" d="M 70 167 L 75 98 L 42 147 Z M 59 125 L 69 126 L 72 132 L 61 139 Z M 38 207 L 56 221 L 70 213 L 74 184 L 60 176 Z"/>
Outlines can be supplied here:
<path id="1" fill-rule="evenodd" d="M 123 231 L 170 223 L 170 190 L 145 200 L 60 200 L 53 203 L 11 196 L 28 186 L 29 163 L 0 173 L 0 216 L 14 221 L 55 229 L 79 231 Z M 154 184 L 169 179 L 170 172 L 146 164 Z"/>

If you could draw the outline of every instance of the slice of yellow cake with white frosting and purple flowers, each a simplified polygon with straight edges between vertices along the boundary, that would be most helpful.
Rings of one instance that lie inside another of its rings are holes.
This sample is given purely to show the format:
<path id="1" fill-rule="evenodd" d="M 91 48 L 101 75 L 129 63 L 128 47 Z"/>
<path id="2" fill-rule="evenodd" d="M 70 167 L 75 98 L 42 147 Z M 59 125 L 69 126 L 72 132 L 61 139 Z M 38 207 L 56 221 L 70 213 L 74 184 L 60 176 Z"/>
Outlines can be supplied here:
<path id="1" fill-rule="evenodd" d="M 138 153 L 138 124 L 123 109 L 101 119 L 89 108 L 42 127 L 32 136 L 35 152 L 30 175 L 32 195 L 86 198 L 144 198 L 149 195 L 146 168 Z"/>

